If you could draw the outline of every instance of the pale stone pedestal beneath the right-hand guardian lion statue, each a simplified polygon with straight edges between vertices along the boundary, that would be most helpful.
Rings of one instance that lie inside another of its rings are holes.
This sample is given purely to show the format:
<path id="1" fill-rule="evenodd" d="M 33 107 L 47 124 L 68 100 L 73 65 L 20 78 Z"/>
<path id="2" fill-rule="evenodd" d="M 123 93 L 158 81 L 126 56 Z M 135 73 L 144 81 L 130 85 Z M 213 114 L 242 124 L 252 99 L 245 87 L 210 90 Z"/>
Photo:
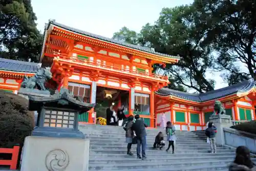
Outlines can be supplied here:
<path id="1" fill-rule="evenodd" d="M 232 126 L 231 117 L 229 115 L 211 115 L 210 121 L 217 127 L 216 144 L 224 145 L 224 132 L 223 127 Z"/>

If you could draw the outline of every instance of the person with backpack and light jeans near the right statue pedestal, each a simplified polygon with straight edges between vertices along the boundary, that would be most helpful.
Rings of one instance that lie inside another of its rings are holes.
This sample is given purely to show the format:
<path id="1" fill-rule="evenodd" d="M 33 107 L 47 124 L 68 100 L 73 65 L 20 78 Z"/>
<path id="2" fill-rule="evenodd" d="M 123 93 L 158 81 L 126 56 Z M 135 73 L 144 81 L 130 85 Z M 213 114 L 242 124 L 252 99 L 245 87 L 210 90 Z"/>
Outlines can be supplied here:
<path id="1" fill-rule="evenodd" d="M 208 128 L 205 130 L 205 135 L 209 138 L 210 141 L 210 153 L 217 153 L 216 152 L 216 138 L 215 135 L 217 133 L 217 128 L 215 127 L 214 123 L 209 122 Z"/>

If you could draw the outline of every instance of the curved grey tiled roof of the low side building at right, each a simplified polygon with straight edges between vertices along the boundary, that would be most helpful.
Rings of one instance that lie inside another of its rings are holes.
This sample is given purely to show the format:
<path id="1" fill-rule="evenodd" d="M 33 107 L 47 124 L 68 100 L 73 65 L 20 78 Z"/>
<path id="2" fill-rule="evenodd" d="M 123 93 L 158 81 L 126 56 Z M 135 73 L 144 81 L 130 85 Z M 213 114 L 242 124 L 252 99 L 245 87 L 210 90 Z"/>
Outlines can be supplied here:
<path id="1" fill-rule="evenodd" d="M 218 98 L 239 93 L 239 92 L 241 93 L 247 92 L 250 89 L 252 89 L 255 86 L 255 84 L 256 84 L 256 81 L 246 80 L 243 82 L 239 82 L 237 84 L 233 84 L 232 86 L 228 86 L 218 90 L 212 90 L 212 91 L 201 93 L 201 94 L 192 94 L 192 93 L 176 91 L 168 88 L 162 88 L 156 91 L 156 94 L 160 96 L 171 95 L 171 96 L 179 97 L 179 98 L 190 100 L 190 101 L 204 102 L 204 101 L 218 99 Z"/>

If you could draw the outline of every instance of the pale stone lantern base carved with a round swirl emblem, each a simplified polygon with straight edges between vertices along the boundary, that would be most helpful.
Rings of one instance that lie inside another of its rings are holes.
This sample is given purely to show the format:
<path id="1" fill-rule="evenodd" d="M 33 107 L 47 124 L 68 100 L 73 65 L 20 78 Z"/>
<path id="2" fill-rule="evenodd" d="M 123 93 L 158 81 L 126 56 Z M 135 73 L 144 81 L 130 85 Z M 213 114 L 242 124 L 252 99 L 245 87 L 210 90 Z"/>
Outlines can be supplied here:
<path id="1" fill-rule="evenodd" d="M 90 140 L 77 138 L 25 138 L 20 171 L 88 171 Z"/>

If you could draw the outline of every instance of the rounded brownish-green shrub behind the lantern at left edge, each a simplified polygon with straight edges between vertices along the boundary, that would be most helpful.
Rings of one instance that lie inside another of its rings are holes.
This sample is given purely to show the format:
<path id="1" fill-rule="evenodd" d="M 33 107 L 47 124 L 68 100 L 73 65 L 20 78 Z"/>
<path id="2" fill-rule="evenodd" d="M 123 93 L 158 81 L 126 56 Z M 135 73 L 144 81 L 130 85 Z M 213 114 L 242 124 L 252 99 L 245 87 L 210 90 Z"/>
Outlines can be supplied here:
<path id="1" fill-rule="evenodd" d="M 28 111 L 28 100 L 0 90 L 0 147 L 24 143 L 34 127 L 34 112 Z"/>

